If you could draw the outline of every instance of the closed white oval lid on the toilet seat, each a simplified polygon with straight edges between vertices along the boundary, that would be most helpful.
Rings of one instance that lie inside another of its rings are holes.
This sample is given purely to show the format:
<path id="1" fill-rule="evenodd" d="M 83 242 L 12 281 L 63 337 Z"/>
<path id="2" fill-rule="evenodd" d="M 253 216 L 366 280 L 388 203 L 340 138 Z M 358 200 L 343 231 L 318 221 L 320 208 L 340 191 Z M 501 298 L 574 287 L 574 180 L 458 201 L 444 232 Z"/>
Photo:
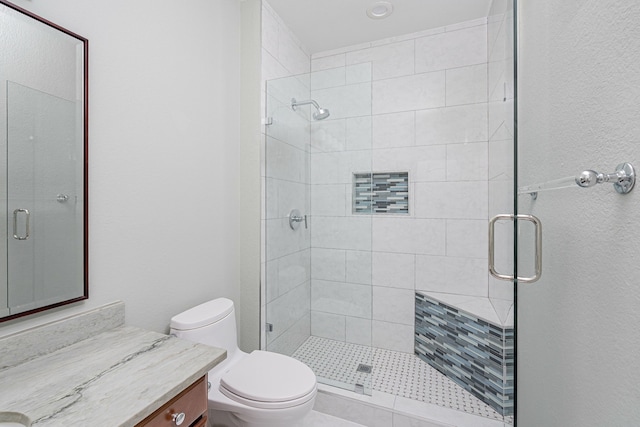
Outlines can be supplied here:
<path id="1" fill-rule="evenodd" d="M 224 374 L 220 386 L 242 398 L 243 403 L 247 399 L 257 404 L 288 402 L 312 393 L 316 389 L 316 376 L 296 359 L 256 350 Z"/>

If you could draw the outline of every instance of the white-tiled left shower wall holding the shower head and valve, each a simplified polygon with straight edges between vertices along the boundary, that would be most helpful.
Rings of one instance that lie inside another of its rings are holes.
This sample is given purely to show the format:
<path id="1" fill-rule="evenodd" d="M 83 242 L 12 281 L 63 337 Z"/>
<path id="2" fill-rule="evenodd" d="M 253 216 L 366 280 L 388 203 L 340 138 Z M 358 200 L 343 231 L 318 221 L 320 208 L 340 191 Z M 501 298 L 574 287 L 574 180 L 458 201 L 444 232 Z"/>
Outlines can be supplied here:
<path id="1" fill-rule="evenodd" d="M 262 334 L 262 348 L 291 354 L 310 331 L 309 229 L 301 224 L 292 230 L 288 215 L 294 208 L 309 213 L 309 109 L 293 111 L 291 98 L 309 98 L 311 59 L 273 9 L 262 4 L 262 111 L 273 121 L 263 129 L 261 269 L 263 322 L 273 331 Z"/>

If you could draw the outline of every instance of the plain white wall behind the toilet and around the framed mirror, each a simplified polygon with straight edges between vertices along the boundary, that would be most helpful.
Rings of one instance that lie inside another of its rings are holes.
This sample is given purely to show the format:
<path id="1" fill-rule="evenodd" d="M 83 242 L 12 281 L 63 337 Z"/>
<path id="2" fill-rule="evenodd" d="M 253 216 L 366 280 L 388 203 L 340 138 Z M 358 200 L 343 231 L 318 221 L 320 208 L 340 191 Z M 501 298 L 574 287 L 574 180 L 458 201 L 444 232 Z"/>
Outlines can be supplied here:
<path id="1" fill-rule="evenodd" d="M 159 332 L 207 299 L 239 304 L 236 0 L 16 0 L 89 39 L 89 300 Z"/>

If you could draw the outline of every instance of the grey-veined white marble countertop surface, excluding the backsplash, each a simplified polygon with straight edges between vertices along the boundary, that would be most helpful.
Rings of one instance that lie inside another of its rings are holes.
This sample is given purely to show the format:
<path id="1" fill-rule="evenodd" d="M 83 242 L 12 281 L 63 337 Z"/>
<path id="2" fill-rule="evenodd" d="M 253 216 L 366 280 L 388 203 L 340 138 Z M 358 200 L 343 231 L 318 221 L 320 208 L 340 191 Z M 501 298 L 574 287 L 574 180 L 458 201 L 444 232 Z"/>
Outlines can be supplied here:
<path id="1" fill-rule="evenodd" d="M 0 411 L 32 426 L 133 426 L 226 357 L 121 326 L 0 370 Z"/>

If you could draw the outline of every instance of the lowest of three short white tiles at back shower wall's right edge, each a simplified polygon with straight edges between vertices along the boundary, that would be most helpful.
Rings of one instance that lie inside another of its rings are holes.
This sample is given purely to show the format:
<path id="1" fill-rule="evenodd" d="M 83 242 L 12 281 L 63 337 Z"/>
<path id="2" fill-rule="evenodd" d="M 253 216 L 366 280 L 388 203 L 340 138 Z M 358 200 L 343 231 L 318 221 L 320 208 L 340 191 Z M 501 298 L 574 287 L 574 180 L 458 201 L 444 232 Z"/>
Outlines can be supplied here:
<path id="1" fill-rule="evenodd" d="M 487 258 L 486 220 L 447 220 L 447 256 Z"/>

